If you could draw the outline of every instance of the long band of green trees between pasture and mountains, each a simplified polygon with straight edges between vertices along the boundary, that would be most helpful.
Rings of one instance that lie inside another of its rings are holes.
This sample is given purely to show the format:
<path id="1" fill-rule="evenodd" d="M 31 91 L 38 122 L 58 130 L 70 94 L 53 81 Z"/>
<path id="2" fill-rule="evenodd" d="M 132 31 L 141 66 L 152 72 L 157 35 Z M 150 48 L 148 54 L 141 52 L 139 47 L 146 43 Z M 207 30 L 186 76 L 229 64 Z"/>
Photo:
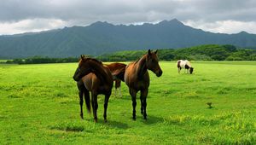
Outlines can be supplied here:
<path id="1" fill-rule="evenodd" d="M 155 50 L 155 49 L 154 49 Z M 136 61 L 147 50 L 119 51 L 95 57 L 100 61 Z M 84 54 L 86 55 L 86 54 Z M 183 49 L 159 49 L 160 61 L 177 61 L 186 59 L 189 61 L 256 61 L 256 49 L 241 49 L 234 45 L 207 44 Z M 6 63 L 32 64 L 32 63 L 65 63 L 78 62 L 78 57 L 49 58 L 34 56 L 31 58 L 15 59 Z"/>

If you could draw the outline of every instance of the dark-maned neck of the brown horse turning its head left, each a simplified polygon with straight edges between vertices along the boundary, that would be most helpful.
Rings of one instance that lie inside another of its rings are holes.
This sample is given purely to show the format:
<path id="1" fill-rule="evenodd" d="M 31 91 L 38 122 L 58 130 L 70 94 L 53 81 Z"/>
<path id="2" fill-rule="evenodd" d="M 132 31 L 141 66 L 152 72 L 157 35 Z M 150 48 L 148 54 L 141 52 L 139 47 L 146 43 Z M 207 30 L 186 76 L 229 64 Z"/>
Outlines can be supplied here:
<path id="1" fill-rule="evenodd" d="M 106 72 L 106 68 L 103 67 L 101 64 L 91 61 L 90 67 L 93 68 L 93 72 L 102 82 L 111 82 L 111 77 L 109 77 L 108 72 Z"/>

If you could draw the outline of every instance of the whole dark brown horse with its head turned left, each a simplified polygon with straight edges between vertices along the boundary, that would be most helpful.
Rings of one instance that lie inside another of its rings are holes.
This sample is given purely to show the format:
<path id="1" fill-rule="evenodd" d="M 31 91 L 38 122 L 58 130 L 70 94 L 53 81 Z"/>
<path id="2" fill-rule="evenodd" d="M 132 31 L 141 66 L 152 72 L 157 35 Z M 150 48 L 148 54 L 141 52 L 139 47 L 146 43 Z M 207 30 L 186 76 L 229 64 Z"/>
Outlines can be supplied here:
<path id="1" fill-rule="evenodd" d="M 88 112 L 90 113 L 90 95 L 91 92 L 91 106 L 93 110 L 94 121 L 97 122 L 97 96 L 99 94 L 105 95 L 104 101 L 104 121 L 107 121 L 107 108 L 108 99 L 111 96 L 111 91 L 113 87 L 113 78 L 108 67 L 104 67 L 102 61 L 97 61 L 92 58 L 85 58 L 81 55 L 79 61 L 79 67 L 73 75 L 73 79 L 77 81 L 79 88 L 79 98 L 80 98 L 80 116 L 83 116 L 83 95 L 85 104 Z"/>

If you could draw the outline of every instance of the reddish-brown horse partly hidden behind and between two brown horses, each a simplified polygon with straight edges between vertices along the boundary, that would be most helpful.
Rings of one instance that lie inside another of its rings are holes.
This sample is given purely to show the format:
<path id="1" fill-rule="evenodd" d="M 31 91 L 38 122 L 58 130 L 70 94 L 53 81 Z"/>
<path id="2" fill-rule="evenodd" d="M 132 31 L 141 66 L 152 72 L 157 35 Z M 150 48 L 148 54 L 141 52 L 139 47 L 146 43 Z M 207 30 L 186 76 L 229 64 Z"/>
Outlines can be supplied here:
<path id="1" fill-rule="evenodd" d="M 117 90 L 119 89 L 119 96 L 121 96 L 121 81 L 125 81 L 125 67 L 126 65 L 124 63 L 111 63 L 111 64 L 105 64 L 106 67 L 109 68 L 110 72 L 113 76 L 113 81 L 115 82 L 115 91 L 114 94 L 117 94 Z"/>

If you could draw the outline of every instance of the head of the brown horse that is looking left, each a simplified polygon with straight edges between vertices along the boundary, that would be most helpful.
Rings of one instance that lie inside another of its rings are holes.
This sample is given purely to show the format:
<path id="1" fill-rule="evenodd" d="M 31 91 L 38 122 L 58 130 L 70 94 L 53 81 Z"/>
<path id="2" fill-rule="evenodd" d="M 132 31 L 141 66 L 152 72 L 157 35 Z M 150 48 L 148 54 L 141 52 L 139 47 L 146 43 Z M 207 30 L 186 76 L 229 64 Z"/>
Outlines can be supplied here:
<path id="1" fill-rule="evenodd" d="M 84 55 L 81 55 L 79 60 L 79 67 L 73 75 L 73 79 L 75 81 L 79 81 L 82 77 L 91 72 L 90 64 L 86 63 L 89 60 L 90 58 L 86 58 Z"/>

